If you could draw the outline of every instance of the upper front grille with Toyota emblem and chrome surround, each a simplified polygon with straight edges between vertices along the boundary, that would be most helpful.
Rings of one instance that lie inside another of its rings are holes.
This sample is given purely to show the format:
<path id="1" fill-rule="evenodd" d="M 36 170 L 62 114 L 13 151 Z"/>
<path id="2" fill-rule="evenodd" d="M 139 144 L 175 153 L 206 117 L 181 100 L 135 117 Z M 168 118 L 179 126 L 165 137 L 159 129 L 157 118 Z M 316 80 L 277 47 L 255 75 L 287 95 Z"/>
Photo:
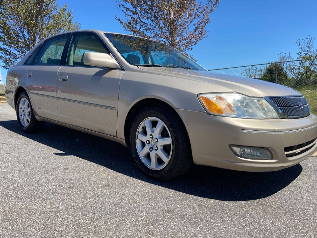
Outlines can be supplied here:
<path id="1" fill-rule="evenodd" d="M 279 109 L 284 118 L 299 118 L 308 116 L 309 106 L 304 96 L 269 97 L 271 102 Z"/>

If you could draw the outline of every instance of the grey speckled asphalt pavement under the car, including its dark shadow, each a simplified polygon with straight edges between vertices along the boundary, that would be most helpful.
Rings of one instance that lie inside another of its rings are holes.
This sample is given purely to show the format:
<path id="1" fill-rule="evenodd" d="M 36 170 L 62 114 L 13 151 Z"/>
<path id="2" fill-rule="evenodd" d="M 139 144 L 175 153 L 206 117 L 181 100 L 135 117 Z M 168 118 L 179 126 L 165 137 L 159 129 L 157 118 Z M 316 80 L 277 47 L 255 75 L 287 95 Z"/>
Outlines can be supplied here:
<path id="1" fill-rule="evenodd" d="M 144 176 L 129 149 L 46 123 L 24 134 L 0 104 L 0 237 L 317 237 L 317 165 Z"/>

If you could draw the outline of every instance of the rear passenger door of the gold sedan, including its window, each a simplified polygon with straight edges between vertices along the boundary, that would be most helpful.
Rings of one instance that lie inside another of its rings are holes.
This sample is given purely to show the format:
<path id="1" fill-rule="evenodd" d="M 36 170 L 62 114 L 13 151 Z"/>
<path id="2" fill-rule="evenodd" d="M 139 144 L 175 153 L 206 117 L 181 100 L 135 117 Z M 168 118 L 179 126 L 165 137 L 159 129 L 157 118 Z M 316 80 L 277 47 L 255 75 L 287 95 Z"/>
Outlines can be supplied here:
<path id="1" fill-rule="evenodd" d="M 43 43 L 26 71 L 26 86 L 38 116 L 58 120 L 56 77 L 68 37 L 69 34 L 57 36 Z"/>

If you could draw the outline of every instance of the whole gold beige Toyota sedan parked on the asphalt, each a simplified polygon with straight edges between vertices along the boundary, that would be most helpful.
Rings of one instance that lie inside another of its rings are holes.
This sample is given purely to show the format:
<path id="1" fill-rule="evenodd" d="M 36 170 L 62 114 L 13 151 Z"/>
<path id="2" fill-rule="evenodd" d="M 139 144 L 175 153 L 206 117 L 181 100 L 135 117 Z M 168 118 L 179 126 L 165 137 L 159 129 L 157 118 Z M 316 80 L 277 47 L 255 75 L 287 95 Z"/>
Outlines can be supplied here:
<path id="1" fill-rule="evenodd" d="M 42 40 L 8 70 L 5 97 L 23 132 L 52 122 L 119 142 L 161 180 L 193 163 L 279 170 L 317 148 L 317 117 L 300 92 L 210 73 L 166 44 L 126 34 Z"/>

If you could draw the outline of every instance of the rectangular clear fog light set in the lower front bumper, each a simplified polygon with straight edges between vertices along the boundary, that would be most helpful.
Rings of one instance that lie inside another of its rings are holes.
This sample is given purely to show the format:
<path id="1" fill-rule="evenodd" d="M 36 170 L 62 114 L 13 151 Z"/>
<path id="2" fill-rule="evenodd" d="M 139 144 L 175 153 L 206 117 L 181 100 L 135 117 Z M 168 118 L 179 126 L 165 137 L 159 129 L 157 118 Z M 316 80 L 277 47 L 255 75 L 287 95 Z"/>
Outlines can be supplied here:
<path id="1" fill-rule="evenodd" d="M 239 146 L 239 145 L 230 145 L 233 153 L 236 156 L 245 159 L 253 159 L 253 160 L 271 160 L 273 156 L 271 152 L 266 148 L 260 147 L 247 147 L 247 146 Z"/>

